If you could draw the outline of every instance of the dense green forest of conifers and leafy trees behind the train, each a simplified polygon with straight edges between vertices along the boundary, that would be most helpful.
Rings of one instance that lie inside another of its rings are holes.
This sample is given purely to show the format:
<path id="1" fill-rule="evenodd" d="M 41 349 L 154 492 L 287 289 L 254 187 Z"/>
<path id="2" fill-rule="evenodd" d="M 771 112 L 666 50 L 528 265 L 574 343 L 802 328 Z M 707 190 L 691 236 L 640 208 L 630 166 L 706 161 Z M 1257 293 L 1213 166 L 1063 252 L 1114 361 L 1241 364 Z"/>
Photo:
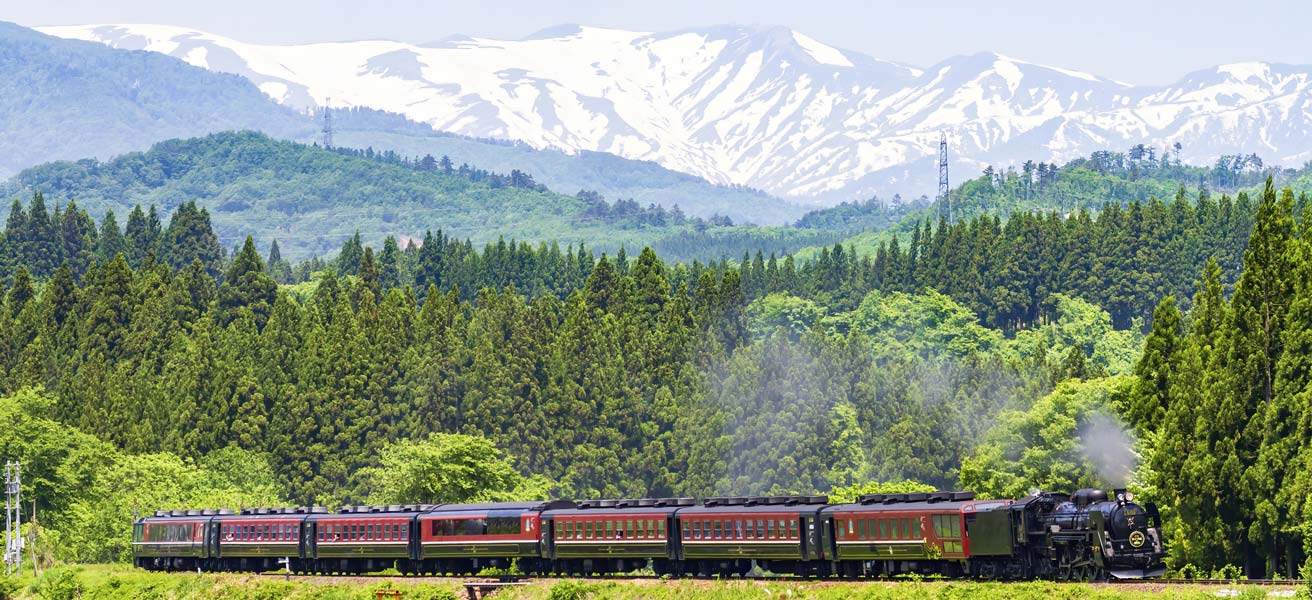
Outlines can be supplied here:
<path id="1" fill-rule="evenodd" d="M 224 252 L 194 204 L 121 230 L 37 196 L 3 238 L 0 387 L 37 429 L 76 432 L 62 461 L 100 444 L 114 469 L 193 482 L 157 504 L 377 498 L 379 456 L 467 433 L 577 498 L 1130 482 L 1168 507 L 1177 567 L 1288 572 L 1307 523 L 1303 352 L 1286 351 L 1312 264 L 1300 205 L 1269 186 L 1256 206 L 921 222 L 905 249 L 806 261 L 436 232 L 291 265 L 249 238 Z M 1107 469 L 1090 427 L 1144 460 Z M 54 465 L 37 481 L 58 490 Z M 68 494 L 37 494 L 56 532 L 85 515 Z"/>

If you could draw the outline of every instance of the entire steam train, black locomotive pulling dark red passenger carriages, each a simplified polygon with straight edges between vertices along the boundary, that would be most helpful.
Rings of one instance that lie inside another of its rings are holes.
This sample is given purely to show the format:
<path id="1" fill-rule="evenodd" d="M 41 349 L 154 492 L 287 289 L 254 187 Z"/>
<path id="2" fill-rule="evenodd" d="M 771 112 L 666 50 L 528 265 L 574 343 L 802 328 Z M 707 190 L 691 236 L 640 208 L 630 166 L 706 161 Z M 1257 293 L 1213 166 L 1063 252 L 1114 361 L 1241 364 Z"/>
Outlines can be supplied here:
<path id="1" fill-rule="evenodd" d="M 148 570 L 408 575 L 630 572 L 980 579 L 1160 576 L 1153 504 L 1124 490 L 749 496 L 160 511 L 139 519 L 133 554 Z"/>

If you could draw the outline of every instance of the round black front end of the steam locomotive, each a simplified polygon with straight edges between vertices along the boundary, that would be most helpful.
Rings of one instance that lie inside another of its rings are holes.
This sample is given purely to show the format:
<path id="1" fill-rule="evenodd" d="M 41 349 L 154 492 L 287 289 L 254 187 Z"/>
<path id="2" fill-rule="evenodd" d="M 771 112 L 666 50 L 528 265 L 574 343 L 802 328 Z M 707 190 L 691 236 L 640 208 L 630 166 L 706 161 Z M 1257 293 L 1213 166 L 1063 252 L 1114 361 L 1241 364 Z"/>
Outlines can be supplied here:
<path id="1" fill-rule="evenodd" d="M 1166 572 L 1161 540 L 1161 515 L 1152 503 L 1140 505 L 1126 490 L 1089 507 L 1102 515 L 1099 549 L 1103 565 L 1118 579 L 1156 578 Z"/>

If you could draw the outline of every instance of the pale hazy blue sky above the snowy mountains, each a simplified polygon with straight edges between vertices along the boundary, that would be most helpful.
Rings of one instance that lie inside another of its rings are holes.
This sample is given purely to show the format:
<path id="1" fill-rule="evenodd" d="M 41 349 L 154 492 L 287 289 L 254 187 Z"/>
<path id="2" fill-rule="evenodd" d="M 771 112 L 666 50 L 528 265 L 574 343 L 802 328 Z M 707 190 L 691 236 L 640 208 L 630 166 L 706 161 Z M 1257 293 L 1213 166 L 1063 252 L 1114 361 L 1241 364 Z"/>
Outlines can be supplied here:
<path id="1" fill-rule="evenodd" d="M 0 0 L 0 20 L 157 22 L 262 43 L 521 38 L 565 22 L 785 25 L 920 67 L 992 50 L 1134 84 L 1239 60 L 1312 64 L 1312 0 Z"/>

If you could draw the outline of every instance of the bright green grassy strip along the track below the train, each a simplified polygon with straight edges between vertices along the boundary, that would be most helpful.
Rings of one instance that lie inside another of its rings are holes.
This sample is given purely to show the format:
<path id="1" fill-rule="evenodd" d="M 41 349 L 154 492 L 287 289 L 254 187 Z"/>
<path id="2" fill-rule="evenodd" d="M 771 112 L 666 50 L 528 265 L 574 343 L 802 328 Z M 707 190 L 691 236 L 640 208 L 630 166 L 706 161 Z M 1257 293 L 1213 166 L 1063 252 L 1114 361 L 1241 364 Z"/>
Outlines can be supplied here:
<path id="1" fill-rule="evenodd" d="M 230 599 L 230 600 L 373 600 L 395 588 L 405 600 L 464 597 L 459 579 L 404 580 L 386 578 L 294 578 L 240 574 L 154 574 L 123 566 L 77 566 L 49 570 L 41 578 L 10 580 L 0 597 L 72 599 Z M 1223 592 L 1223 589 L 1225 592 Z M 1288 589 L 1283 588 L 1282 591 Z M 579 582 L 535 580 L 496 595 L 497 600 L 903 600 L 903 599 L 1212 599 L 1266 597 L 1275 588 L 1132 584 L 970 582 Z M 7 593 L 5 593 L 7 592 Z M 1288 593 L 1288 592 L 1284 592 Z M 1308 597 L 1308 591 L 1299 591 Z M 1284 596 L 1288 597 L 1288 596 Z"/>

